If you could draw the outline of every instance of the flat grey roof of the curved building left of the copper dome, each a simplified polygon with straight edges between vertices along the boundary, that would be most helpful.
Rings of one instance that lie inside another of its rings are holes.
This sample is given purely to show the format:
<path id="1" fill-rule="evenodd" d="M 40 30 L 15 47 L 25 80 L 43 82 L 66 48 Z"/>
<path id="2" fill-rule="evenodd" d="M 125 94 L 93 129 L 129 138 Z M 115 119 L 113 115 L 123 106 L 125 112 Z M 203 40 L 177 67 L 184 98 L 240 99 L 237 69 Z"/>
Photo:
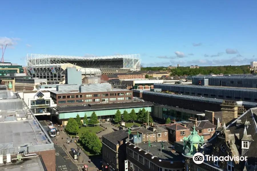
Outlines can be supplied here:
<path id="1" fill-rule="evenodd" d="M 171 161 L 184 160 L 184 156 L 182 156 L 182 154 L 176 151 L 171 152 L 172 150 L 171 144 L 162 142 L 163 144 L 162 155 L 160 155 L 160 151 L 161 151 L 160 142 L 152 142 L 150 144 L 151 146 L 149 147 L 149 152 L 160 159 L 171 160 Z M 146 152 L 148 152 L 148 143 L 139 143 L 138 146 L 143 150 L 146 150 Z"/>

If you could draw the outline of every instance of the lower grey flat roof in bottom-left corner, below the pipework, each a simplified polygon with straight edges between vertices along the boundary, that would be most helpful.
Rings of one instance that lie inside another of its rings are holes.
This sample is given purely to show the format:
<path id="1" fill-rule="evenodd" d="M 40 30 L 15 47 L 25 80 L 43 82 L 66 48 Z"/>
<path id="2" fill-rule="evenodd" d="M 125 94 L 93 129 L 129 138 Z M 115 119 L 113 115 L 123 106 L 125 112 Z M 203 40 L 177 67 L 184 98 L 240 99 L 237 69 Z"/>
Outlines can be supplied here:
<path id="1" fill-rule="evenodd" d="M 43 160 L 42 160 L 43 161 Z M 7 171 L 24 171 L 24 170 L 38 170 L 38 171 L 45 171 L 45 165 L 41 162 L 40 158 L 31 157 L 31 158 L 24 158 L 22 161 L 18 161 L 15 163 L 7 163 L 7 164 L 0 164 L 1 170 Z"/>

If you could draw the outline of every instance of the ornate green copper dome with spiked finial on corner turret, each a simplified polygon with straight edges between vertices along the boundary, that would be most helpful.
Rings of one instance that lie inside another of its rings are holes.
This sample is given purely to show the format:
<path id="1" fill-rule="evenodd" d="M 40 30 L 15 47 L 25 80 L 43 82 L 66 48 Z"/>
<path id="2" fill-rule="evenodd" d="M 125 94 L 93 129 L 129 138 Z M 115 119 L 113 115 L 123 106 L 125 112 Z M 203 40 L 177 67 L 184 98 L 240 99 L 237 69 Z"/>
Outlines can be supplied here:
<path id="1" fill-rule="evenodd" d="M 195 131 L 195 126 L 193 127 L 193 131 L 188 137 L 183 138 L 184 141 L 184 155 L 193 156 L 196 152 L 198 152 L 199 145 L 202 146 L 204 144 L 204 137 L 199 136 L 197 131 Z"/>

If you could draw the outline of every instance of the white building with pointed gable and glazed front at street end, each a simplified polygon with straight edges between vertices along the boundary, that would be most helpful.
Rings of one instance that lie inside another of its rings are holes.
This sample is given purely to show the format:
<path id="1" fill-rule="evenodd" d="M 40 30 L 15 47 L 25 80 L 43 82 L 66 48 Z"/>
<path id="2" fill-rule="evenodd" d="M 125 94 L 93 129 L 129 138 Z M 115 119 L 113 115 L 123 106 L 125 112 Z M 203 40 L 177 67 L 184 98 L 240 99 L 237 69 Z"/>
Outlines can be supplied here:
<path id="1" fill-rule="evenodd" d="M 34 115 L 50 115 L 50 107 L 56 107 L 49 91 L 22 91 L 18 93 Z"/>

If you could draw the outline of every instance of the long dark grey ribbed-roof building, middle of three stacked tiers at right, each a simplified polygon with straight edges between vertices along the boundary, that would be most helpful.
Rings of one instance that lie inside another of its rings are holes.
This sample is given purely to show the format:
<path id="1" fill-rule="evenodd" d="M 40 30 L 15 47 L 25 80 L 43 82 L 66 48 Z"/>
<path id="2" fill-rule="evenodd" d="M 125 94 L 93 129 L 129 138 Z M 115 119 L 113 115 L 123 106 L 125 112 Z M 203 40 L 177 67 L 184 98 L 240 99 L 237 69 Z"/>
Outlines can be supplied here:
<path id="1" fill-rule="evenodd" d="M 180 95 L 191 95 L 223 100 L 257 102 L 257 89 L 234 87 L 211 87 L 178 84 L 154 84 L 154 88 Z"/>

